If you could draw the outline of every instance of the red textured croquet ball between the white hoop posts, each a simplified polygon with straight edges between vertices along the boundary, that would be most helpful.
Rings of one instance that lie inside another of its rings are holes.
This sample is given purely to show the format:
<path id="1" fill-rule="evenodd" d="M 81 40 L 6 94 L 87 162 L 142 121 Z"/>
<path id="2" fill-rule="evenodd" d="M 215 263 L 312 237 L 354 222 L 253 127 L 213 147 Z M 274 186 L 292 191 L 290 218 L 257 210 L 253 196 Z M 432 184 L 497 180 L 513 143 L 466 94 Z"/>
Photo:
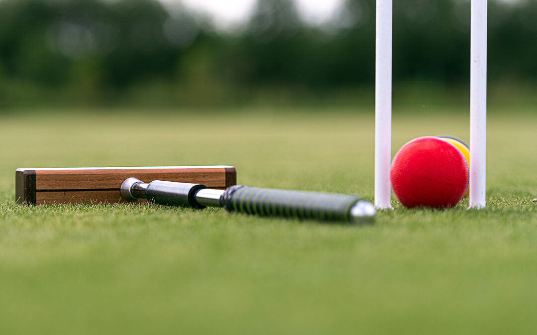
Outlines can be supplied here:
<path id="1" fill-rule="evenodd" d="M 395 155 L 390 181 L 405 207 L 454 207 L 468 188 L 468 164 L 453 144 L 438 137 L 419 137 Z"/>

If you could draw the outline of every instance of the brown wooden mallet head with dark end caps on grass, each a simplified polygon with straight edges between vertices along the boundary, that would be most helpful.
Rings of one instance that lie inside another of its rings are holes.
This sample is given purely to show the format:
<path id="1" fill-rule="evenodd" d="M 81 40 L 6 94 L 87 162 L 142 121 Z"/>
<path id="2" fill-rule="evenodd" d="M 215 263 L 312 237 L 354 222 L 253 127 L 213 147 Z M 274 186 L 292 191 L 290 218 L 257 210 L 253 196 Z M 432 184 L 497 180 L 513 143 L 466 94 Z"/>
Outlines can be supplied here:
<path id="1" fill-rule="evenodd" d="M 120 203 L 124 200 L 119 187 L 128 177 L 146 183 L 165 180 L 223 189 L 236 184 L 236 174 L 231 166 L 26 168 L 17 169 L 15 198 L 28 205 Z"/>

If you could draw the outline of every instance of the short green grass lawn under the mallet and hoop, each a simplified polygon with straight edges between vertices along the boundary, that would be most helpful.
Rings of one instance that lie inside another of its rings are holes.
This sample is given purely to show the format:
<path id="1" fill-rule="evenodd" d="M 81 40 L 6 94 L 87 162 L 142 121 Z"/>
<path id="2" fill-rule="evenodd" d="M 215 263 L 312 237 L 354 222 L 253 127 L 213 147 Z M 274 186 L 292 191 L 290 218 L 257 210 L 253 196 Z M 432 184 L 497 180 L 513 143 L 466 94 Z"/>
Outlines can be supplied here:
<path id="1" fill-rule="evenodd" d="M 421 108 L 421 107 L 420 107 Z M 468 114 L 394 110 L 408 140 Z M 0 333 L 537 330 L 537 115 L 491 110 L 488 207 L 347 226 L 150 205 L 14 204 L 18 167 L 233 165 L 238 183 L 373 197 L 371 110 L 13 111 L 0 117 Z"/>

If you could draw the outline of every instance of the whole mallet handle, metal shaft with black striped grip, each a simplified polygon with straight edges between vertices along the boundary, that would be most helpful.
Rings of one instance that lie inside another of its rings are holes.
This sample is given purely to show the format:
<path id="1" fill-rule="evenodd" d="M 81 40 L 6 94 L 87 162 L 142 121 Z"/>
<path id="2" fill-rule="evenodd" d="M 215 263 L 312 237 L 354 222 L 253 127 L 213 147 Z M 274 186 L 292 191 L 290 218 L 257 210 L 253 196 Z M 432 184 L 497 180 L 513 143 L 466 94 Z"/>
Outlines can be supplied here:
<path id="1" fill-rule="evenodd" d="M 366 222 L 374 219 L 375 207 L 357 196 L 233 186 L 208 189 L 202 184 L 156 180 L 144 183 L 127 178 L 121 196 L 129 201 L 148 199 L 152 203 L 202 209 L 224 207 L 228 212 L 279 216 L 322 221 Z"/>

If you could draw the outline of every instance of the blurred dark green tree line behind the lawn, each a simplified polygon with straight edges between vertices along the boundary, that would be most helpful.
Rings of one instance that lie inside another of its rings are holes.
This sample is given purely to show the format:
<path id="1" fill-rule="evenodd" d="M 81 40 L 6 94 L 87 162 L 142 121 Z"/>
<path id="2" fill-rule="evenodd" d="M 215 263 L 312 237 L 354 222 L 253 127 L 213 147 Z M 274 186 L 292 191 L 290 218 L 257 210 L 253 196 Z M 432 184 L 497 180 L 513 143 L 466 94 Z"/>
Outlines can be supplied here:
<path id="1" fill-rule="evenodd" d="M 537 1 L 489 1 L 490 81 L 535 81 L 536 20 Z M 469 41 L 468 0 L 394 1 L 396 83 L 466 85 Z M 374 54 L 374 0 L 349 0 L 320 26 L 303 23 L 291 0 L 260 0 L 227 32 L 153 0 L 0 0 L 0 106 L 372 87 Z"/>

